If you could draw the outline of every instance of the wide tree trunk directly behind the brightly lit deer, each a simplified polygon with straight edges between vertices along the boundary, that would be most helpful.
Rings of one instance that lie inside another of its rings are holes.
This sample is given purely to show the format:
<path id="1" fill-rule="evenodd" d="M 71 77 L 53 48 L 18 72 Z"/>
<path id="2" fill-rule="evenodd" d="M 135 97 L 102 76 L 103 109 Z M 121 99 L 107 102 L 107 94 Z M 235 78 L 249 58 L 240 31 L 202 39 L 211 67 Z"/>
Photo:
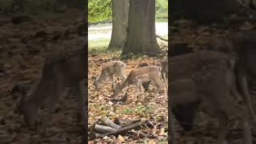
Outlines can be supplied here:
<path id="1" fill-rule="evenodd" d="M 155 34 L 155 0 L 130 0 L 127 38 L 122 55 L 156 55 L 161 50 Z"/>

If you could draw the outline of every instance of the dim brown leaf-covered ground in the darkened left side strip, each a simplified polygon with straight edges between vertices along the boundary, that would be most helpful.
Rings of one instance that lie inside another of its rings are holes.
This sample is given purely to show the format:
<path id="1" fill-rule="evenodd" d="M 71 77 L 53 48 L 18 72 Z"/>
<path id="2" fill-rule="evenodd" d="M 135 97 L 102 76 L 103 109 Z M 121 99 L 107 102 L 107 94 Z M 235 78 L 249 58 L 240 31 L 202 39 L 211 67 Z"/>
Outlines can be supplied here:
<path id="1" fill-rule="evenodd" d="M 84 36 L 76 32 L 82 16 L 83 12 L 74 10 L 33 17 L 18 24 L 0 17 L 1 144 L 81 143 L 82 127 L 76 124 L 73 96 L 60 98 L 58 111 L 48 123 L 47 134 L 27 130 L 22 116 L 14 110 L 20 96 L 15 87 L 18 83 L 33 85 L 37 82 L 48 54 L 84 45 Z"/>

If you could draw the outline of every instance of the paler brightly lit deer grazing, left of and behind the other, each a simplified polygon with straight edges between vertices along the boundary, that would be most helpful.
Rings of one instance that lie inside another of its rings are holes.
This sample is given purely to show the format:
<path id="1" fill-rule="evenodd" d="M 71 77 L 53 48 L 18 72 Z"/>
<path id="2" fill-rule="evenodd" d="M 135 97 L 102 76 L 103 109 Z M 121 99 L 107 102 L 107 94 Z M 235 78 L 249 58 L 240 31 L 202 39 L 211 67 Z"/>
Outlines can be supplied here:
<path id="1" fill-rule="evenodd" d="M 94 86 L 97 90 L 101 88 L 101 85 L 104 86 L 108 78 L 112 79 L 112 87 L 115 89 L 114 84 L 114 74 L 116 74 L 119 78 L 122 79 L 122 82 L 126 79 L 125 75 L 126 64 L 121 61 L 111 61 L 107 62 L 102 66 L 101 74 L 95 78 Z"/>

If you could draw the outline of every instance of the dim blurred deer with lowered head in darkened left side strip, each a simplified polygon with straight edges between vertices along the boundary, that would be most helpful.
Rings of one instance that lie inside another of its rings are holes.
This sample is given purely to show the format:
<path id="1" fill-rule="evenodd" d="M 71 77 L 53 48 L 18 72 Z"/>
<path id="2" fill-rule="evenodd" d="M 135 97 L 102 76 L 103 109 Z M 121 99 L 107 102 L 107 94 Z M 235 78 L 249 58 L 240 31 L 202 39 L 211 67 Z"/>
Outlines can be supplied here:
<path id="1" fill-rule="evenodd" d="M 55 59 L 54 59 L 55 58 Z M 68 56 L 57 54 L 48 59 L 43 66 L 42 76 L 33 89 L 19 99 L 18 110 L 23 114 L 26 126 L 35 128 L 38 120 L 38 109 L 48 100 L 49 112 L 42 120 L 46 124 L 54 110 L 58 98 L 70 87 L 78 101 L 78 122 L 86 126 L 86 90 L 85 90 L 85 54 L 75 50 Z"/>

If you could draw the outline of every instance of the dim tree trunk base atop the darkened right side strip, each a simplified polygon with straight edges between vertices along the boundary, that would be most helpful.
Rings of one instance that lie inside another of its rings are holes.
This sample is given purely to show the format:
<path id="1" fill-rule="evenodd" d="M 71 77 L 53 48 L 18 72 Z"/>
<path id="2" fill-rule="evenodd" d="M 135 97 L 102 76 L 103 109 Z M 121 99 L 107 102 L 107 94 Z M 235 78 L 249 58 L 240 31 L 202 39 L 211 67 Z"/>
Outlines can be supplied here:
<path id="1" fill-rule="evenodd" d="M 239 11 L 237 0 L 176 0 L 171 5 L 172 18 L 186 18 L 198 22 L 222 21 Z"/>

